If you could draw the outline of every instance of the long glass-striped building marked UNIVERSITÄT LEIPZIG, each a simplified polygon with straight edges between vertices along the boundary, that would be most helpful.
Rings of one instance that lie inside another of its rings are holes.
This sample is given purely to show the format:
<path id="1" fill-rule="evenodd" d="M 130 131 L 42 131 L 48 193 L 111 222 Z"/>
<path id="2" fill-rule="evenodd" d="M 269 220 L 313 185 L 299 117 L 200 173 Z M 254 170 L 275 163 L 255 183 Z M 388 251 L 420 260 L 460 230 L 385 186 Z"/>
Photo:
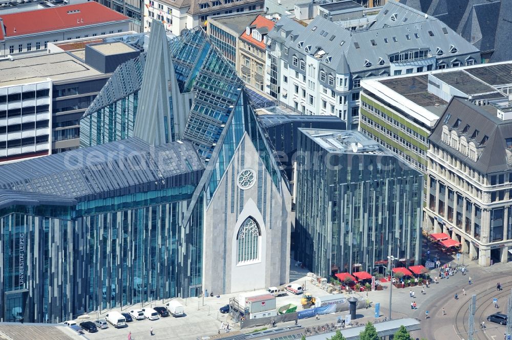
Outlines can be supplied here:
<path id="1" fill-rule="evenodd" d="M 203 170 L 189 142 L 136 138 L 0 167 L 0 318 L 195 295 L 202 213 L 179 218 Z"/>

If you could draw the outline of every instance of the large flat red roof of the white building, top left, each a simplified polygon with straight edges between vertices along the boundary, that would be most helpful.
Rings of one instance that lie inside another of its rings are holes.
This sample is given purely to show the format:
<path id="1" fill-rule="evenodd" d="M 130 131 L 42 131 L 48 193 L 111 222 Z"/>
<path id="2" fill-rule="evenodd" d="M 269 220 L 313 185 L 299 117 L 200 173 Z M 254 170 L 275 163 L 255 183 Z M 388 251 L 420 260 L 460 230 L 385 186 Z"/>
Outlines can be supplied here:
<path id="1" fill-rule="evenodd" d="M 129 17 L 94 1 L 5 14 L 0 15 L 0 18 L 2 18 L 7 37 L 129 19 Z M 0 28 L 0 40 L 4 38 L 4 33 Z"/>

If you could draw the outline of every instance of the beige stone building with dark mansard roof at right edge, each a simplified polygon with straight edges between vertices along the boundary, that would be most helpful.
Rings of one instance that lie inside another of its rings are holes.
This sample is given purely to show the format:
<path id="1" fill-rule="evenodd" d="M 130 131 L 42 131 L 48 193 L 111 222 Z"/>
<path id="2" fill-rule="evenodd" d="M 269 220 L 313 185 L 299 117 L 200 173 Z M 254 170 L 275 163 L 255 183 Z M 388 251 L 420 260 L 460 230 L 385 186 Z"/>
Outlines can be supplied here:
<path id="1" fill-rule="evenodd" d="M 429 137 L 425 229 L 481 266 L 512 261 L 511 105 L 454 97 Z"/>

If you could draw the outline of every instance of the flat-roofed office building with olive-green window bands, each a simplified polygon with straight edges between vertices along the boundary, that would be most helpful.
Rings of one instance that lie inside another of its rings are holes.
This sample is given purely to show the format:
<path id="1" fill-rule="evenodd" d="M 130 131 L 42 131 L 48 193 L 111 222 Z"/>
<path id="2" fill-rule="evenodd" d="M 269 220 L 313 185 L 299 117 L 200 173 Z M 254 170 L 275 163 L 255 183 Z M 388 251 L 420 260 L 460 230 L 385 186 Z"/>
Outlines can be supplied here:
<path id="1" fill-rule="evenodd" d="M 512 63 L 460 67 L 361 81 L 360 129 L 426 173 L 428 137 L 453 96 L 479 105 L 506 99 Z"/>

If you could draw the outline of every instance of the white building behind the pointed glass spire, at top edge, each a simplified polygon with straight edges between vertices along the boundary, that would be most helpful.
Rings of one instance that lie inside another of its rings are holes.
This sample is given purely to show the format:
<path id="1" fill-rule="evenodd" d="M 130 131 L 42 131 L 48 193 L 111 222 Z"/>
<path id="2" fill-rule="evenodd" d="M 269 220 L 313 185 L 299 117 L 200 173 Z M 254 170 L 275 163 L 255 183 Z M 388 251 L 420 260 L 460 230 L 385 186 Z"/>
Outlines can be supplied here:
<path id="1" fill-rule="evenodd" d="M 145 0 L 144 31 L 151 31 L 153 20 L 162 21 L 165 30 L 175 35 L 198 26 L 206 30 L 208 16 L 261 10 L 263 3 L 263 0 Z"/>

